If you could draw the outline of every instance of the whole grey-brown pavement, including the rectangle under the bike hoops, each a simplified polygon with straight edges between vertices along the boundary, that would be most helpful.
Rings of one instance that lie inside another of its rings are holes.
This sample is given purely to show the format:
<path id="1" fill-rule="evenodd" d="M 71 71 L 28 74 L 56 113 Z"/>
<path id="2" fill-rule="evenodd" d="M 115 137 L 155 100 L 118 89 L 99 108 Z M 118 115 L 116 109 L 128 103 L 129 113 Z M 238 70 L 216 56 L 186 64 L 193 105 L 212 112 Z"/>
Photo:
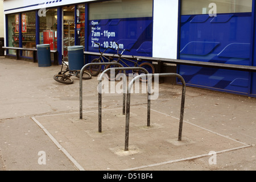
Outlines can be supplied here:
<path id="1" fill-rule="evenodd" d="M 56 82 L 60 68 L 0 57 L 0 171 L 256 169 L 255 98 L 187 87 L 178 142 L 181 86 L 159 85 L 150 127 L 146 95 L 131 94 L 129 151 L 124 151 L 122 94 L 102 95 L 98 133 L 97 77 L 83 81 L 79 119 L 79 79 L 72 77 L 72 85 Z"/>

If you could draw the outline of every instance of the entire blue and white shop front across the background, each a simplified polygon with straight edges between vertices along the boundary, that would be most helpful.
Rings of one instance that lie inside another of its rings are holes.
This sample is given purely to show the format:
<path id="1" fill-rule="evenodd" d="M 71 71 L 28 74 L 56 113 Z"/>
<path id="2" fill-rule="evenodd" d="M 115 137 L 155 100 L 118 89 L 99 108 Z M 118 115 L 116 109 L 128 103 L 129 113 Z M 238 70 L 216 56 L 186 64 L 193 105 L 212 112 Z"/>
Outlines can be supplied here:
<path id="1" fill-rule="evenodd" d="M 117 53 L 118 44 L 130 50 L 126 55 L 256 66 L 255 6 L 255 0 L 5 0 L 5 46 L 50 44 L 59 64 L 65 47 L 98 52 L 99 43 L 112 48 L 107 53 Z M 189 86 L 256 97 L 255 73 L 183 64 L 177 73 Z"/>

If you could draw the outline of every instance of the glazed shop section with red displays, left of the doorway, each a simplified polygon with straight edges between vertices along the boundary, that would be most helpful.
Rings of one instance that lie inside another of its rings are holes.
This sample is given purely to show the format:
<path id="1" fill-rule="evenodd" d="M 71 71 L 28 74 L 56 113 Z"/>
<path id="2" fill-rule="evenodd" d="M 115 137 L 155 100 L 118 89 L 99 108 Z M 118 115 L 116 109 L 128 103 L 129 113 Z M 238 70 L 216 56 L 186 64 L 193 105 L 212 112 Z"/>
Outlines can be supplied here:
<path id="1" fill-rule="evenodd" d="M 57 51 L 57 9 L 47 9 L 45 16 L 38 16 L 38 10 L 6 14 L 6 46 L 36 48 L 37 44 L 50 44 Z M 9 49 L 7 55 L 15 55 Z M 32 59 L 32 51 L 22 51 L 20 55 Z M 52 58 L 53 59 L 53 58 Z"/>

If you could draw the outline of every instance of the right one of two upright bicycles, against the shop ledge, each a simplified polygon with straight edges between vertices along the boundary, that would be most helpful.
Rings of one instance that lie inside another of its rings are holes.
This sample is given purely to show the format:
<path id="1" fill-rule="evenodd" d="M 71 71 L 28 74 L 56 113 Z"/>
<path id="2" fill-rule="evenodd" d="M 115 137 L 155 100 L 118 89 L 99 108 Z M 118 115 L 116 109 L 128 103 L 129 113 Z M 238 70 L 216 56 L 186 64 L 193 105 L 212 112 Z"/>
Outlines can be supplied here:
<path id="1" fill-rule="evenodd" d="M 154 65 L 151 64 L 151 63 L 144 62 L 144 63 L 139 64 L 139 62 L 141 62 L 142 60 L 141 60 L 141 59 L 138 59 L 138 57 L 134 57 L 134 56 L 133 56 L 133 58 L 134 58 L 135 60 L 137 60 L 137 61 L 130 60 L 130 59 L 127 59 L 127 58 L 125 58 L 125 57 L 122 57 L 122 55 L 123 55 L 123 53 L 124 53 L 125 51 L 129 51 L 129 52 L 130 52 L 130 50 L 129 50 L 129 49 L 121 49 L 121 48 L 119 48 L 119 44 L 118 44 L 118 43 L 115 43 L 115 44 L 117 44 L 117 46 L 118 46 L 118 48 L 117 48 L 118 59 L 117 59 L 117 60 L 114 60 L 115 62 L 117 62 L 117 63 L 122 62 L 122 64 L 126 65 L 126 67 L 131 67 L 130 65 L 128 65 L 128 64 L 124 61 L 124 60 L 126 60 L 126 61 L 129 61 L 130 63 L 133 63 L 133 66 L 132 66 L 132 67 L 141 67 L 141 68 L 145 68 L 145 69 L 148 71 L 148 73 L 152 73 L 152 74 L 155 73 L 155 67 L 154 67 Z M 119 49 L 122 51 L 121 53 L 119 53 Z M 116 67 L 116 66 L 108 65 L 108 66 L 106 67 L 106 69 L 112 68 L 112 67 Z M 136 71 L 135 73 L 138 73 L 138 75 L 140 75 L 141 73 L 144 73 L 144 72 L 143 72 L 143 71 Z M 115 77 L 117 76 L 117 74 L 118 74 L 118 72 L 115 72 Z M 126 75 L 127 75 L 127 74 L 126 74 Z M 114 77 L 114 78 L 115 78 L 115 77 Z M 110 77 L 109 77 L 109 80 L 113 80 L 113 78 L 110 78 Z"/>

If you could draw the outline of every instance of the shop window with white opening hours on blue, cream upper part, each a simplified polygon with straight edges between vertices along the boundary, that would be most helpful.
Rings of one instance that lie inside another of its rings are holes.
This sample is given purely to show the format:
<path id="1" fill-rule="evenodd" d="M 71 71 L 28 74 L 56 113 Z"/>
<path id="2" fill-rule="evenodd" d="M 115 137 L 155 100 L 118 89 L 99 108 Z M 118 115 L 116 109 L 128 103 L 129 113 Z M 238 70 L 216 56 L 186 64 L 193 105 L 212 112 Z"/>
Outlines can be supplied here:
<path id="1" fill-rule="evenodd" d="M 89 4 L 89 51 L 129 49 L 127 55 L 152 56 L 152 0 L 106 1 Z"/>

